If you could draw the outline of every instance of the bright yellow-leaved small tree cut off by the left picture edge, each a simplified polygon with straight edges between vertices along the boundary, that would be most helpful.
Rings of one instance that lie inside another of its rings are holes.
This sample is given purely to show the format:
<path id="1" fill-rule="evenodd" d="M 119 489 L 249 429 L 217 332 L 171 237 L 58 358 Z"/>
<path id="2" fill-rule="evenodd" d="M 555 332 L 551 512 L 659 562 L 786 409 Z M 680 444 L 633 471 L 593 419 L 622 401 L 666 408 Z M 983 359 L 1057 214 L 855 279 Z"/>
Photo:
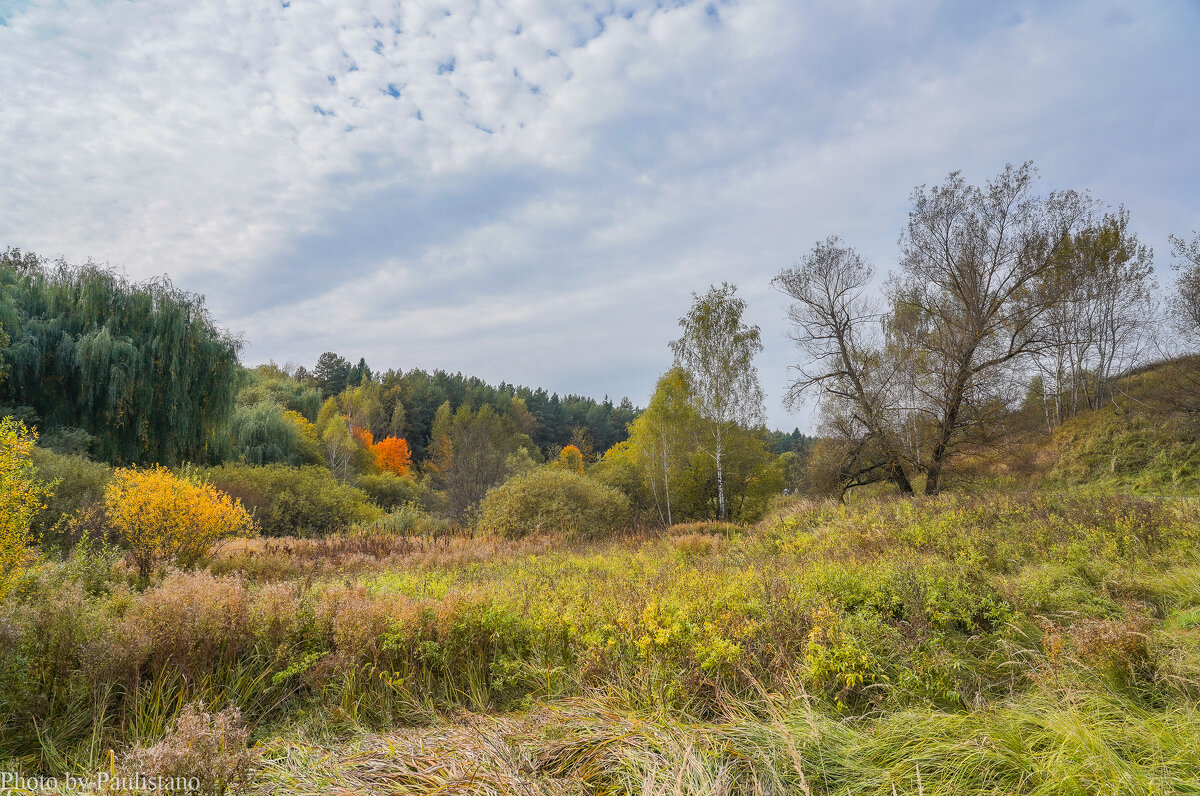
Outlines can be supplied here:
<path id="1" fill-rule="evenodd" d="M 24 424 L 0 420 L 0 593 L 20 569 L 34 541 L 29 526 L 44 504 L 30 454 L 37 436 Z"/>

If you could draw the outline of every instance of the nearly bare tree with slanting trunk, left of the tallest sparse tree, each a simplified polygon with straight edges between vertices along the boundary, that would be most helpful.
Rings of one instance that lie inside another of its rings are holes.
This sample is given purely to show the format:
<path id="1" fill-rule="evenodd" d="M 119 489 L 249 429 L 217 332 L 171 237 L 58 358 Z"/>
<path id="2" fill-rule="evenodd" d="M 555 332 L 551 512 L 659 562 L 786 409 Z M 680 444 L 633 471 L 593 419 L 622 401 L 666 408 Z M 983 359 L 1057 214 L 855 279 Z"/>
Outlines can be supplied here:
<path id="1" fill-rule="evenodd" d="M 808 355 L 785 400 L 796 408 L 816 393 L 826 430 L 844 441 L 844 490 L 889 480 L 912 495 L 900 433 L 900 361 L 887 351 L 882 310 L 866 297 L 874 276 L 858 252 L 834 237 L 773 280 L 793 301 L 791 337 Z"/>

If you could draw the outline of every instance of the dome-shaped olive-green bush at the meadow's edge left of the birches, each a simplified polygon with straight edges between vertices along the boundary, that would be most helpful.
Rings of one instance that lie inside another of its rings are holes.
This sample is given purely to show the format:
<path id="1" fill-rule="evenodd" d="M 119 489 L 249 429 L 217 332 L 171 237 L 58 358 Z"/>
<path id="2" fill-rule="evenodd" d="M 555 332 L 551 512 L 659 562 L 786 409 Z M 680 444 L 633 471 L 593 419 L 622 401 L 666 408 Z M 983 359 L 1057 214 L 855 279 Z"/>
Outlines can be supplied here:
<path id="1" fill-rule="evenodd" d="M 480 507 L 479 527 L 505 537 L 558 532 L 570 538 L 612 533 L 628 520 L 629 498 L 600 481 L 540 467 L 493 489 Z"/>

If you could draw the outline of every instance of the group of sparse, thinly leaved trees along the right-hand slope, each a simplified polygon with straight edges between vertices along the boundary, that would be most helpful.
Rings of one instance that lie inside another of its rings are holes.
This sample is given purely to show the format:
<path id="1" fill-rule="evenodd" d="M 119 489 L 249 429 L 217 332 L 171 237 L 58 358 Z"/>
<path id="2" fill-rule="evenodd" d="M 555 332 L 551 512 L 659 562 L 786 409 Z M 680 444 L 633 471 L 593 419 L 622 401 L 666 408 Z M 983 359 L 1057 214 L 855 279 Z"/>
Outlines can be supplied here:
<path id="1" fill-rule="evenodd" d="M 1129 213 L 1034 182 L 1026 163 L 918 187 L 886 279 L 836 237 L 775 279 L 805 354 L 788 400 L 820 403 L 822 489 L 937 493 L 955 462 L 1006 444 L 1022 407 L 1052 431 L 1120 401 L 1122 375 L 1180 349 L 1171 336 L 1195 342 L 1200 239 L 1172 237 L 1163 313 Z"/>

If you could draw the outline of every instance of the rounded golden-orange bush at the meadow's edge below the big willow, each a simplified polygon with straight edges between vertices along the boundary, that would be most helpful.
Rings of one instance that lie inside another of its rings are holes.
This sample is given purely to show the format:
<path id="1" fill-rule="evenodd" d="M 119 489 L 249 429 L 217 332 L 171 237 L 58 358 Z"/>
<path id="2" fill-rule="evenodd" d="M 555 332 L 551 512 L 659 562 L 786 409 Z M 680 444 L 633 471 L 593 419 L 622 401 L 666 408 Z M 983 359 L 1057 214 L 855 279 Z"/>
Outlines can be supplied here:
<path id="1" fill-rule="evenodd" d="M 143 577 L 157 561 L 192 567 L 221 539 L 257 529 L 238 498 L 163 467 L 116 471 L 104 490 L 104 515 Z"/>

